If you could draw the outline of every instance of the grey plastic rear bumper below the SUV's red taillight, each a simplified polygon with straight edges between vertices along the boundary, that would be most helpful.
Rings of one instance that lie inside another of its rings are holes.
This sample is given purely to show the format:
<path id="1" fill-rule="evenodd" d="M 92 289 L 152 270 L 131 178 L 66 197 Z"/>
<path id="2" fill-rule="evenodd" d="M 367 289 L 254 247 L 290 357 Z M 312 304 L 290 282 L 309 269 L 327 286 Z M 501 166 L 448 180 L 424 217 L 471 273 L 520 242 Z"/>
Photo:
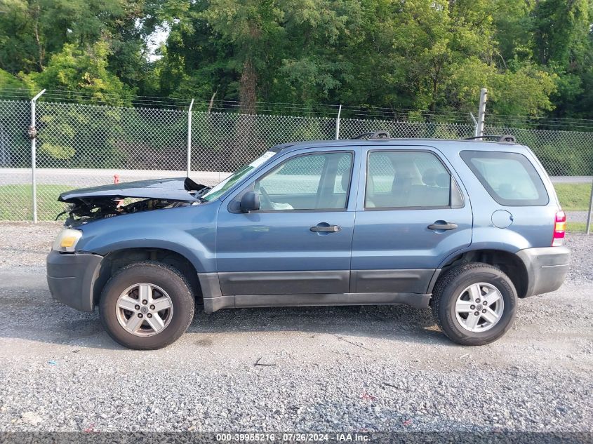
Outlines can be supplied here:
<path id="1" fill-rule="evenodd" d="M 526 248 L 517 256 L 527 269 L 528 285 L 525 297 L 558 290 L 568 273 L 571 250 L 567 247 Z"/>

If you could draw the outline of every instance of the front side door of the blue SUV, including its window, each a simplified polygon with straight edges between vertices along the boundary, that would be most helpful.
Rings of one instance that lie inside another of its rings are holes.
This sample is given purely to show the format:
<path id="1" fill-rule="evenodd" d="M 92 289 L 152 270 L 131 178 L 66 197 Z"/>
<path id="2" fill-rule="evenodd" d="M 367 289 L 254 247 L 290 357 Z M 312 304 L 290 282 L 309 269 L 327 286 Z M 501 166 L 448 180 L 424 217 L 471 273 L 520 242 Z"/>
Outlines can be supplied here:
<path id="1" fill-rule="evenodd" d="M 354 152 L 301 151 L 222 203 L 216 251 L 222 294 L 348 292 L 353 166 Z M 246 191 L 259 195 L 260 210 L 233 209 Z"/>

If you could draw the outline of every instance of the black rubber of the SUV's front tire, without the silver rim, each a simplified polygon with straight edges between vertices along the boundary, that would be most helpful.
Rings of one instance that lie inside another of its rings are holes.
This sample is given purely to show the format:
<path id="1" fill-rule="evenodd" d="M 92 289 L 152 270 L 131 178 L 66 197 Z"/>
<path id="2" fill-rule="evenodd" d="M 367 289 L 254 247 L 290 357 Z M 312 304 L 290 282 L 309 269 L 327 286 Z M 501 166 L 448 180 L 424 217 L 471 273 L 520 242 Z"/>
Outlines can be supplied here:
<path id="1" fill-rule="evenodd" d="M 136 336 L 128 332 L 120 325 L 116 314 L 121 293 L 138 283 L 157 285 L 168 294 L 173 306 L 171 321 L 152 336 Z M 195 302 L 190 288 L 185 277 L 169 265 L 148 261 L 130 264 L 114 274 L 103 288 L 99 303 L 101 321 L 109 336 L 124 347 L 135 350 L 161 349 L 175 342 L 192 323 Z"/>

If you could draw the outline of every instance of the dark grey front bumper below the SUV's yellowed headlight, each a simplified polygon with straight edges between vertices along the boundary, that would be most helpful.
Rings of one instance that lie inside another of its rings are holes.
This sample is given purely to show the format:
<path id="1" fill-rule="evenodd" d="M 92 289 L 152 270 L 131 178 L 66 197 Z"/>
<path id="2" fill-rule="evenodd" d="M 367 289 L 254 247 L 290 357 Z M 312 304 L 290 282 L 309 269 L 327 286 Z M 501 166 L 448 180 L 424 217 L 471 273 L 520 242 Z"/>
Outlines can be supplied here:
<path id="1" fill-rule="evenodd" d="M 93 311 L 93 288 L 103 257 L 92 253 L 58 253 L 47 257 L 47 283 L 51 296 L 77 310 Z"/>

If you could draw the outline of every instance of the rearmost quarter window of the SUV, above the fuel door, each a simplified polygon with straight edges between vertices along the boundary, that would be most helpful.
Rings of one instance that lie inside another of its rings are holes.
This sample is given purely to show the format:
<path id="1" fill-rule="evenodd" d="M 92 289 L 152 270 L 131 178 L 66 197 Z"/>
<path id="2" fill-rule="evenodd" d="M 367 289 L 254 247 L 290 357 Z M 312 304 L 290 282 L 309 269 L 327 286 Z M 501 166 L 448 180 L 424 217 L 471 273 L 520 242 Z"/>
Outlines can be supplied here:
<path id="1" fill-rule="evenodd" d="M 523 154 L 493 151 L 462 151 L 460 154 L 500 205 L 547 205 L 549 199 L 540 175 Z"/>

